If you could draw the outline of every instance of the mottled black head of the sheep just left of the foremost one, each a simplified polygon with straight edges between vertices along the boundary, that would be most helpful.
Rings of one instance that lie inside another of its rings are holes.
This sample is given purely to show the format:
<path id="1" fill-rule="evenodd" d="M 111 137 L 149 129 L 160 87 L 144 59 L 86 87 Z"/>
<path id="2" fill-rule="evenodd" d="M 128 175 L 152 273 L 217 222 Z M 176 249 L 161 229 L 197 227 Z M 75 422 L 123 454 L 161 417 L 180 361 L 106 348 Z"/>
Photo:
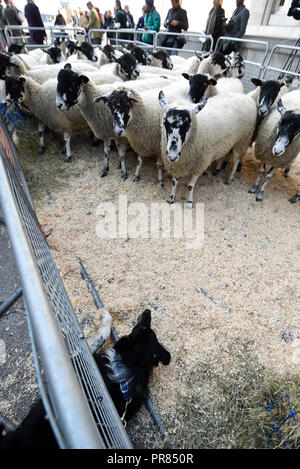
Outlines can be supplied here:
<path id="1" fill-rule="evenodd" d="M 131 90 L 116 90 L 107 96 L 98 96 L 95 102 L 108 105 L 113 116 L 113 126 L 117 137 L 125 137 L 127 126 L 131 120 L 131 109 L 137 96 Z"/>

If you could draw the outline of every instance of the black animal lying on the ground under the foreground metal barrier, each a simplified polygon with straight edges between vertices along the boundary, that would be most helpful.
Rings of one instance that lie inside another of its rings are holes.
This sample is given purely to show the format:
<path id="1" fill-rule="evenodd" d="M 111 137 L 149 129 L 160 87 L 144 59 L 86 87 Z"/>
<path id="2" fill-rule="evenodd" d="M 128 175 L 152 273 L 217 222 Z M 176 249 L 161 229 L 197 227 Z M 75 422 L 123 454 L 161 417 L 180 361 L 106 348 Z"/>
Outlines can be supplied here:
<path id="1" fill-rule="evenodd" d="M 111 322 L 105 322 L 97 337 L 106 341 L 111 333 Z M 121 337 L 112 349 L 94 353 L 108 391 L 123 422 L 130 420 L 148 396 L 151 372 L 159 362 L 168 365 L 170 353 L 158 342 L 151 329 L 151 311 L 145 310 L 131 333 Z M 20 427 L 2 436 L 0 421 L 0 449 L 55 448 L 56 441 L 42 401 L 31 409 Z"/>

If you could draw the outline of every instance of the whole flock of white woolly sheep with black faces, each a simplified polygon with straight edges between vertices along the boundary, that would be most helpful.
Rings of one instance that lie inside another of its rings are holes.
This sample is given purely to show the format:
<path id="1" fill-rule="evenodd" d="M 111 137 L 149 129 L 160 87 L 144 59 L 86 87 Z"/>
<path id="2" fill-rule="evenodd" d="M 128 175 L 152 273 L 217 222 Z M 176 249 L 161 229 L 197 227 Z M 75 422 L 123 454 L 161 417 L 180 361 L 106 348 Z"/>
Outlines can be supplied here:
<path id="1" fill-rule="evenodd" d="M 63 135 L 65 161 L 72 156 L 72 133 L 91 129 L 94 144 L 104 141 L 102 177 L 109 172 L 114 140 L 122 179 L 127 178 L 130 146 L 138 158 L 134 181 L 145 158 L 155 159 L 160 185 L 163 170 L 172 177 L 169 203 L 179 179 L 188 177 L 192 208 L 199 176 L 213 164 L 220 171 L 229 158 L 233 166 L 226 183 L 231 184 L 254 142 L 261 169 L 250 192 L 261 201 L 275 169 L 287 176 L 300 151 L 300 91 L 289 91 L 286 82 L 253 79 L 256 88 L 245 94 L 238 53 L 184 59 L 140 47 L 94 49 L 72 41 L 30 52 L 13 45 L 8 52 L 0 54 L 2 99 L 39 121 L 40 153 L 46 127 Z M 291 202 L 299 199 L 300 192 Z"/>

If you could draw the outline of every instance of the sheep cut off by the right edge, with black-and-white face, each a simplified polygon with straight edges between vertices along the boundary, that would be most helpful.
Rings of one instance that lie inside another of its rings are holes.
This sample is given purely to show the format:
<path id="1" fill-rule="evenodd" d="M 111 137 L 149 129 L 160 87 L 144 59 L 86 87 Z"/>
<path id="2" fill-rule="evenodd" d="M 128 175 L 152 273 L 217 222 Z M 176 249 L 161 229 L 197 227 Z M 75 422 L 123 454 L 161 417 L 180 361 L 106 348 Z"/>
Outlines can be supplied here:
<path id="1" fill-rule="evenodd" d="M 264 191 L 276 168 L 285 169 L 287 176 L 293 161 L 300 152 L 300 91 L 292 91 L 283 96 L 277 103 L 277 109 L 262 122 L 256 143 L 255 157 L 262 165 L 259 176 L 250 189 L 256 194 L 260 181 L 264 177 L 256 200 L 261 202 Z M 266 166 L 271 168 L 266 171 Z M 291 202 L 295 202 L 295 198 Z"/>

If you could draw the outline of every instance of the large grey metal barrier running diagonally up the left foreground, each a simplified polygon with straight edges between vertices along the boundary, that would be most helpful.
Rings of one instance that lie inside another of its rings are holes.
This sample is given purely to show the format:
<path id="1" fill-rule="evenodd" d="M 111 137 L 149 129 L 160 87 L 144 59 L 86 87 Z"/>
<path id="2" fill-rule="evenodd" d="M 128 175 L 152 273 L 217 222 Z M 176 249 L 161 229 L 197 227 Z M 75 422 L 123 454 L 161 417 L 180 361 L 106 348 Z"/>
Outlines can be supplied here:
<path id="1" fill-rule="evenodd" d="M 61 448 L 131 448 L 84 339 L 0 116 L 0 201 L 23 288 L 41 397 Z"/>

